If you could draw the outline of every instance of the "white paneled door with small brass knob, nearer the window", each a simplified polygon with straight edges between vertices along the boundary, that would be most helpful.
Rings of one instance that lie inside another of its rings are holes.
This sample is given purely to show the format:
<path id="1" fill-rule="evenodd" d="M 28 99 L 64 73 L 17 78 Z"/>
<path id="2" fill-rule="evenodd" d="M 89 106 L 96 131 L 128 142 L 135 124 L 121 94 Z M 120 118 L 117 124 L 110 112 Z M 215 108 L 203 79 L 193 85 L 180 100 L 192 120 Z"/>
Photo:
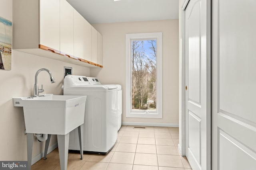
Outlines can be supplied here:
<path id="1" fill-rule="evenodd" d="M 210 170 L 210 6 L 189 0 L 185 10 L 186 156 L 193 170 Z"/>

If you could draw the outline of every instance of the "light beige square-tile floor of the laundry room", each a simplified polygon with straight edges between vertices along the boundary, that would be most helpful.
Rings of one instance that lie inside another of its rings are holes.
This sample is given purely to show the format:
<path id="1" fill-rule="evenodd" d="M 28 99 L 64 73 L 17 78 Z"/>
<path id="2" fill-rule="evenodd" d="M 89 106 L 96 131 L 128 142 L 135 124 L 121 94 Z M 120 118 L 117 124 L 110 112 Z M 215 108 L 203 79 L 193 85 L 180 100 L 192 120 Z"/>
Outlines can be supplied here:
<path id="1" fill-rule="evenodd" d="M 179 129 L 123 125 L 116 145 L 107 155 L 68 154 L 68 170 L 191 170 L 186 157 L 177 149 Z M 32 170 L 60 170 L 58 149 L 39 160 Z"/>

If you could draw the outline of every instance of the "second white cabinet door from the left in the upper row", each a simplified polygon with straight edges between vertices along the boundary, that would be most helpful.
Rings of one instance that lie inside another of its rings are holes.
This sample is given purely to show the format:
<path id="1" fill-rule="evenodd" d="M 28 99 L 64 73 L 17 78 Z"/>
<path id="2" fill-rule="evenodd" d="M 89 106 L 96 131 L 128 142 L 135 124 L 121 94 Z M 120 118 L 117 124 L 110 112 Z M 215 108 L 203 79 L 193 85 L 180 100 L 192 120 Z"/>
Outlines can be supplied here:
<path id="1" fill-rule="evenodd" d="M 74 55 L 74 8 L 60 0 L 60 52 Z"/>

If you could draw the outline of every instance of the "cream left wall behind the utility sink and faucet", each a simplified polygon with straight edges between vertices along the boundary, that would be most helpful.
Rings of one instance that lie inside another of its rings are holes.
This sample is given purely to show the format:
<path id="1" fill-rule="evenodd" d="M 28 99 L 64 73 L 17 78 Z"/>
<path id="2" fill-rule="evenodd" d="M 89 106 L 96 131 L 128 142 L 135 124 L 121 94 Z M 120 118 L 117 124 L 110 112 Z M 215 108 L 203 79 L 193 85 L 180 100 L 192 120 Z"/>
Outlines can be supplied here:
<path id="1" fill-rule="evenodd" d="M 0 0 L 0 4 L 0 16 L 12 21 L 12 0 Z M 47 72 L 39 74 L 38 84 L 44 84 L 45 93 L 62 94 L 64 66 L 72 67 L 73 74 L 90 76 L 90 68 L 12 51 L 12 70 L 0 70 L 0 160 L 27 160 L 23 109 L 14 107 L 12 98 L 32 96 L 34 76 L 40 68 L 48 68 L 56 79 L 56 83 L 51 84 Z M 56 136 L 52 137 L 50 146 L 54 143 Z M 44 142 L 35 139 L 33 157 L 43 150 Z"/>

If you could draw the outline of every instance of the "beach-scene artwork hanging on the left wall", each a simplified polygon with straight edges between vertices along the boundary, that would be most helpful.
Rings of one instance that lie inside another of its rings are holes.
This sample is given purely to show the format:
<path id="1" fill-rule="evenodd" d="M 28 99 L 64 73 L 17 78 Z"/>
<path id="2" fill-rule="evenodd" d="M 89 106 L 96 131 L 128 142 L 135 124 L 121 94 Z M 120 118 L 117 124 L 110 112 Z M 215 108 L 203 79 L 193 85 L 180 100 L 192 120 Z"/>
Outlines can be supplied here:
<path id="1" fill-rule="evenodd" d="M 11 70 L 12 21 L 0 17 L 0 69 Z"/>

